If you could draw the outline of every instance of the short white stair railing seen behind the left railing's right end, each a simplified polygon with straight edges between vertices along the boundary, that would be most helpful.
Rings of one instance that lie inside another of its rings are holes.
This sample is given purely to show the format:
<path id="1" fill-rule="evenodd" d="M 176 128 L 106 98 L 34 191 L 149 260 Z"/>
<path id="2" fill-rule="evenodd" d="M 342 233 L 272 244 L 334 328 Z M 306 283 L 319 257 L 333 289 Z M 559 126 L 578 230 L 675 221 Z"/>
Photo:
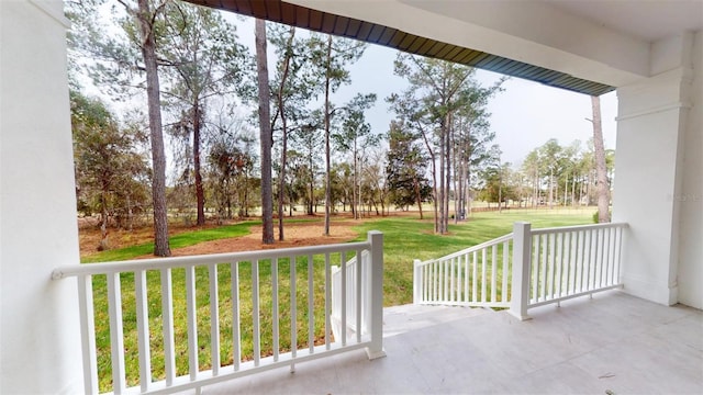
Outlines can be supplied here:
<path id="1" fill-rule="evenodd" d="M 371 257 L 364 250 L 343 266 L 332 267 L 332 332 L 343 345 L 354 336 L 359 341 L 370 330 L 371 304 L 366 296 L 371 291 L 370 266 Z"/>

